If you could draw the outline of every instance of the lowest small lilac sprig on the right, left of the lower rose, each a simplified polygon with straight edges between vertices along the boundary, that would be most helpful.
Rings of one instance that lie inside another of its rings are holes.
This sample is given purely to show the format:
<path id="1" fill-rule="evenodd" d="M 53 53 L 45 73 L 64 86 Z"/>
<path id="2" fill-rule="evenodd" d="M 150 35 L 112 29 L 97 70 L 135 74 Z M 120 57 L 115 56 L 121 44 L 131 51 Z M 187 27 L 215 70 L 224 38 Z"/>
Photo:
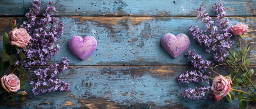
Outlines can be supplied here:
<path id="1" fill-rule="evenodd" d="M 202 96 L 204 97 L 204 99 L 206 99 L 206 95 L 207 93 L 209 93 L 210 98 L 212 97 L 211 93 L 211 86 L 207 86 L 207 87 L 195 87 L 195 89 L 186 89 L 181 93 L 181 96 L 183 96 L 184 98 L 189 98 L 191 100 L 199 100 L 200 98 L 202 98 Z"/>

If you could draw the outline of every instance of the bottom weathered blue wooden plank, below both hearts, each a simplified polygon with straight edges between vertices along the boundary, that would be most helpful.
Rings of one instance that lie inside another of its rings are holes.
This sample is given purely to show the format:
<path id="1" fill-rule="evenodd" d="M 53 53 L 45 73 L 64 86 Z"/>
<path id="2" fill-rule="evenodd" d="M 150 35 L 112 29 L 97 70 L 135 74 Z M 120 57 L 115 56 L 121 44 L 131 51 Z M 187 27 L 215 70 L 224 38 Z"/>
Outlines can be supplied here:
<path id="1" fill-rule="evenodd" d="M 256 70 L 256 66 L 250 66 Z M 216 68 L 227 74 L 228 66 Z M 32 96 L 21 108 L 171 108 L 237 109 L 232 103 L 189 100 L 180 93 L 187 88 L 209 86 L 207 83 L 179 84 L 176 77 L 192 66 L 69 66 L 58 78 L 71 84 L 70 92 L 53 92 Z M 35 78 L 31 73 L 27 79 Z M 256 83 L 256 79 L 253 79 Z M 32 93 L 31 90 L 29 93 Z M 249 108 L 256 107 L 250 102 Z"/>

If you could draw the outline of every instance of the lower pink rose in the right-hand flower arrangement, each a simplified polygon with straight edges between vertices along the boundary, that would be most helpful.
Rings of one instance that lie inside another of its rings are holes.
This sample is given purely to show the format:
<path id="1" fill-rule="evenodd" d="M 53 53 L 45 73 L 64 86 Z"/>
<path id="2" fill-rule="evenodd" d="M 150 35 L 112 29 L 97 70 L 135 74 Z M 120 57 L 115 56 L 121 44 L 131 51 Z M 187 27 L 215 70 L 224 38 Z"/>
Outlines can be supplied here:
<path id="1" fill-rule="evenodd" d="M 211 89 L 213 90 L 214 101 L 220 100 L 221 97 L 227 96 L 231 89 L 232 81 L 228 76 L 215 76 Z"/>

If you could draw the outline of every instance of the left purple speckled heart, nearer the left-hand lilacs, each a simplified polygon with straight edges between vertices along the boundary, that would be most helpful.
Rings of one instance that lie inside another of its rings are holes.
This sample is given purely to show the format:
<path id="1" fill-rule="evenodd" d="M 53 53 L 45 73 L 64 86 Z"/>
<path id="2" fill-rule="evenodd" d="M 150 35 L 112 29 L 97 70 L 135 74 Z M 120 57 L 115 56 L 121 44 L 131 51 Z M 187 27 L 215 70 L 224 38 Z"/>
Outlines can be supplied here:
<path id="1" fill-rule="evenodd" d="M 97 47 L 97 40 L 92 36 L 73 36 L 68 45 L 70 50 L 82 60 L 88 58 Z"/>

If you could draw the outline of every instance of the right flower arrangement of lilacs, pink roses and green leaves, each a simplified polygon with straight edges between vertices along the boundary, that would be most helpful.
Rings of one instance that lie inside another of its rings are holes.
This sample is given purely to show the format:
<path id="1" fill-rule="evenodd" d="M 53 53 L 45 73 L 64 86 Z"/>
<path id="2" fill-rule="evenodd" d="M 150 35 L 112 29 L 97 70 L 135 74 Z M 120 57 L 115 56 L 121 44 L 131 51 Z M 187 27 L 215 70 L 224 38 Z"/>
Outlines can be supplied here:
<path id="1" fill-rule="evenodd" d="M 232 26 L 222 4 L 216 3 L 213 9 L 217 14 L 217 26 L 214 25 L 214 21 L 208 16 L 208 13 L 205 13 L 206 10 L 200 7 L 197 9 L 198 19 L 205 23 L 206 30 L 200 30 L 198 26 L 190 26 L 191 31 L 189 33 L 200 45 L 206 46 L 206 52 L 213 52 L 213 57 L 218 62 L 224 61 L 232 70 L 225 74 L 227 76 L 222 76 L 214 70 L 218 65 L 214 65 L 213 61 L 202 59 L 195 50 L 189 49 L 186 56 L 191 59 L 191 63 L 196 70 L 181 74 L 177 77 L 177 81 L 180 81 L 180 83 L 206 82 L 208 84 L 209 81 L 212 81 L 212 85 L 186 89 L 181 95 L 185 98 L 197 100 L 202 97 L 206 99 L 206 96 L 209 96 L 215 102 L 222 98 L 232 102 L 232 100 L 238 98 L 240 108 L 245 109 L 247 102 L 256 102 L 256 87 L 252 83 L 252 77 L 255 74 L 253 69 L 248 69 L 251 62 L 251 59 L 247 59 L 250 45 L 243 48 L 241 46 L 244 38 L 243 34 L 248 31 L 248 26 L 245 24 Z M 236 43 L 238 49 L 231 52 L 231 46 Z M 222 65 L 225 65 L 225 63 L 222 63 Z M 211 78 L 214 74 L 217 74 L 217 76 Z"/>

